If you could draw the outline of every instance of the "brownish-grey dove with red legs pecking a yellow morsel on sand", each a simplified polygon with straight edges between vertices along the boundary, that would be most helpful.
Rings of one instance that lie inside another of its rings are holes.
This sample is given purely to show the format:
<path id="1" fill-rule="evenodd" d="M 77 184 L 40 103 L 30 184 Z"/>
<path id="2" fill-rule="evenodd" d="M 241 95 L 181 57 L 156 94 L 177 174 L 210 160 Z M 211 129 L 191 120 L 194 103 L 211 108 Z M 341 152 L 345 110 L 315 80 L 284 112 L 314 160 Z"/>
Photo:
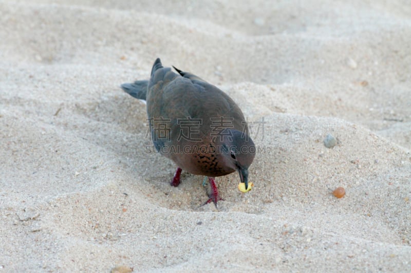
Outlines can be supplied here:
<path id="1" fill-rule="evenodd" d="M 173 68 L 177 73 L 157 58 L 150 79 L 123 83 L 121 88 L 146 102 L 154 147 L 177 165 L 170 184 L 180 184 L 182 171 L 206 176 L 211 192 L 204 204 L 213 202 L 217 207 L 223 199 L 215 177 L 238 172 L 248 189 L 255 144 L 232 98 L 200 77 Z"/>

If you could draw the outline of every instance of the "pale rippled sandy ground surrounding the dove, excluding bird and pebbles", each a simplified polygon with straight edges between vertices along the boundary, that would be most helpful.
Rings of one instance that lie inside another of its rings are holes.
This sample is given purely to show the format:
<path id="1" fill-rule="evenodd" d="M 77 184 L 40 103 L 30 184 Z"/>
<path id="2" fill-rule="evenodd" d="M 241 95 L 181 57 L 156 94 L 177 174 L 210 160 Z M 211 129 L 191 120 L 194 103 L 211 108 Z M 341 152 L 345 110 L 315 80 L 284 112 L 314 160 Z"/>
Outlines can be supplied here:
<path id="1" fill-rule="evenodd" d="M 411 271 L 409 1 L 131 2 L 0 1 L 0 271 Z M 156 57 L 239 104 L 253 191 L 167 183 Z"/>

